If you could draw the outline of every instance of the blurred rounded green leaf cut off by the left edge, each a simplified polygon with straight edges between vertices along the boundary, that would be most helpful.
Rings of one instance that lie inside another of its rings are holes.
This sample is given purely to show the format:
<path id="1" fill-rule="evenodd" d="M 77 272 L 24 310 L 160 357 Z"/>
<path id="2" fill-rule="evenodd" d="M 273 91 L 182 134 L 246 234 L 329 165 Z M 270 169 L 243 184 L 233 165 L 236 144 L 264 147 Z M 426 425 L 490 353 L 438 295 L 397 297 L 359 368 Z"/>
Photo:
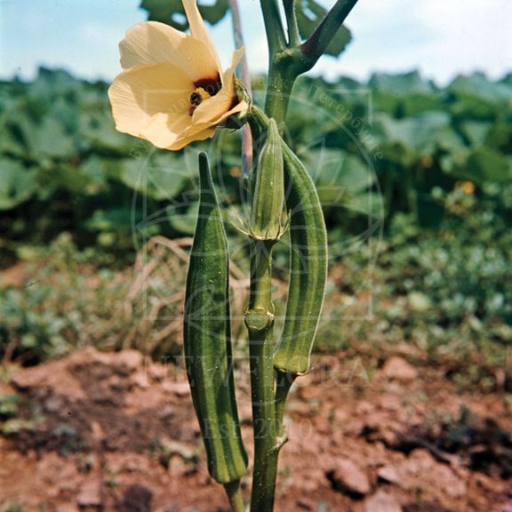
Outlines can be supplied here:
<path id="1" fill-rule="evenodd" d="M 36 172 L 14 160 L 0 160 L 0 210 L 11 210 L 27 201 L 36 188 Z"/>

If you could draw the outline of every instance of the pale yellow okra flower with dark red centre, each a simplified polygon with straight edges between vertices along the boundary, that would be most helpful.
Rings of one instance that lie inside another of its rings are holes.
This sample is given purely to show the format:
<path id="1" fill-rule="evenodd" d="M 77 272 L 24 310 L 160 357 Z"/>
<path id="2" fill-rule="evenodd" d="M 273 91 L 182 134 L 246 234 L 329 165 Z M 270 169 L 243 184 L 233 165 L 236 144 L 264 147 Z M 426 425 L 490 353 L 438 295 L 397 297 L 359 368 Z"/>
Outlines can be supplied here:
<path id="1" fill-rule="evenodd" d="M 180 149 L 213 136 L 215 128 L 248 105 L 239 100 L 236 50 L 225 72 L 197 9 L 183 0 L 190 35 L 157 21 L 130 28 L 119 44 L 124 71 L 108 90 L 119 132 L 157 148 Z"/>

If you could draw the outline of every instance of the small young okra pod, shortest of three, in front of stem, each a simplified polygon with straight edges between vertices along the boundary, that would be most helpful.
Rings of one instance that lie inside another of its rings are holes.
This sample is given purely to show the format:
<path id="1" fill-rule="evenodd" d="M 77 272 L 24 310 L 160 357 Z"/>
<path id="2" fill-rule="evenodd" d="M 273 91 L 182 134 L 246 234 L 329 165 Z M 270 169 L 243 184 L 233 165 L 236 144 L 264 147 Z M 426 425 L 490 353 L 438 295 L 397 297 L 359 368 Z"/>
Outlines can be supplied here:
<path id="1" fill-rule="evenodd" d="M 250 233 L 259 240 L 278 240 L 284 232 L 284 164 L 281 136 L 270 119 L 261 148 L 252 191 Z"/>

